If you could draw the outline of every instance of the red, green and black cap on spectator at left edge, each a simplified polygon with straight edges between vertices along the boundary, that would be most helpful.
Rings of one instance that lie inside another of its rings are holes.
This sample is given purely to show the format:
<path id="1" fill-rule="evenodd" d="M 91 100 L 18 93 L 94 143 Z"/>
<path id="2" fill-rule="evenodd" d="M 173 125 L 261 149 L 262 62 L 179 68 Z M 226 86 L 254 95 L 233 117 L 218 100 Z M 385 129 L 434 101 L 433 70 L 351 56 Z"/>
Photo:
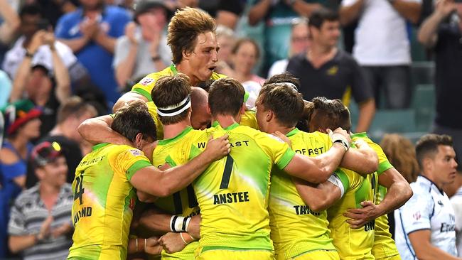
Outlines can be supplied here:
<path id="1" fill-rule="evenodd" d="M 4 115 L 4 127 L 6 134 L 13 134 L 20 126 L 28 121 L 40 117 L 41 109 L 38 109 L 29 99 L 21 99 L 1 109 Z"/>

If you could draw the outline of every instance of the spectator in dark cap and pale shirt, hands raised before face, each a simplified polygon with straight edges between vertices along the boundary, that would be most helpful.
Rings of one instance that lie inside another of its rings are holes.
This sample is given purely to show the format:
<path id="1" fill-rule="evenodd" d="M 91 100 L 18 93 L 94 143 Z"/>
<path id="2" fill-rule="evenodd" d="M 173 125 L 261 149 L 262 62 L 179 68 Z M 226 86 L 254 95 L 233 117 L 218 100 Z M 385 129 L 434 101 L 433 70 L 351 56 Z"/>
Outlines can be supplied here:
<path id="1" fill-rule="evenodd" d="M 163 70 L 171 63 L 164 28 L 171 11 L 163 1 L 139 1 L 134 20 L 125 28 L 125 35 L 117 39 L 112 65 L 119 87 L 130 87 L 140 77 Z M 128 83 L 128 84 L 127 84 Z"/>

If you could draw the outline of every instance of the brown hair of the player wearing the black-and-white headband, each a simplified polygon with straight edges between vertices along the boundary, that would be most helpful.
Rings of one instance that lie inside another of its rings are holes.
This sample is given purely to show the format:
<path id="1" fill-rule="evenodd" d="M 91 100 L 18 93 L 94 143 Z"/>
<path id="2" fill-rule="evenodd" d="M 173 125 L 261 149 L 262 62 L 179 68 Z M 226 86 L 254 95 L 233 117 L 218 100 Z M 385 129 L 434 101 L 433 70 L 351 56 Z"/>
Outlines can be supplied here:
<path id="1" fill-rule="evenodd" d="M 191 85 L 189 77 L 183 73 L 178 73 L 173 76 L 164 76 L 156 82 L 156 87 L 151 91 L 151 98 L 156 107 L 169 107 L 174 104 L 179 104 L 191 94 Z M 176 124 L 183 121 L 188 116 L 190 109 L 186 109 L 172 117 L 162 117 L 159 119 L 162 124 Z"/>

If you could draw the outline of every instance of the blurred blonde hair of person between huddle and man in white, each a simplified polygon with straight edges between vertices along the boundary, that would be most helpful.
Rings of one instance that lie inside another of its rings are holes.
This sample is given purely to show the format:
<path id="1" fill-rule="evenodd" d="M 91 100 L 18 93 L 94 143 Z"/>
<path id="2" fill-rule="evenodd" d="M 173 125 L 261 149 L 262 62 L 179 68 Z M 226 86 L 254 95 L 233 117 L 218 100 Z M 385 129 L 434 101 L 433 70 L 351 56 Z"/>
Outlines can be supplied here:
<path id="1" fill-rule="evenodd" d="M 385 134 L 380 146 L 382 146 L 388 161 L 408 183 L 417 180 L 420 171 L 419 163 L 417 163 L 414 145 L 409 139 L 399 134 Z"/>

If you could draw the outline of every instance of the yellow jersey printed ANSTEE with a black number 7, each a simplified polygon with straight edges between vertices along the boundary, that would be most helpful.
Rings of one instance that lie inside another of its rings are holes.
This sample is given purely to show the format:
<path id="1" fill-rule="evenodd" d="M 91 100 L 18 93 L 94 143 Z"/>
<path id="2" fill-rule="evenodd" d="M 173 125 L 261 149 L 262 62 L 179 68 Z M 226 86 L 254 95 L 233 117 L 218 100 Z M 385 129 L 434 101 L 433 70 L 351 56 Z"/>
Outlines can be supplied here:
<path id="1" fill-rule="evenodd" d="M 212 163 L 194 182 L 202 222 L 200 247 L 273 250 L 269 237 L 269 177 L 273 164 L 285 168 L 294 151 L 280 139 L 248 126 L 232 124 L 215 136 L 229 134 L 231 153 Z M 185 158 L 171 156 L 173 161 Z"/>

